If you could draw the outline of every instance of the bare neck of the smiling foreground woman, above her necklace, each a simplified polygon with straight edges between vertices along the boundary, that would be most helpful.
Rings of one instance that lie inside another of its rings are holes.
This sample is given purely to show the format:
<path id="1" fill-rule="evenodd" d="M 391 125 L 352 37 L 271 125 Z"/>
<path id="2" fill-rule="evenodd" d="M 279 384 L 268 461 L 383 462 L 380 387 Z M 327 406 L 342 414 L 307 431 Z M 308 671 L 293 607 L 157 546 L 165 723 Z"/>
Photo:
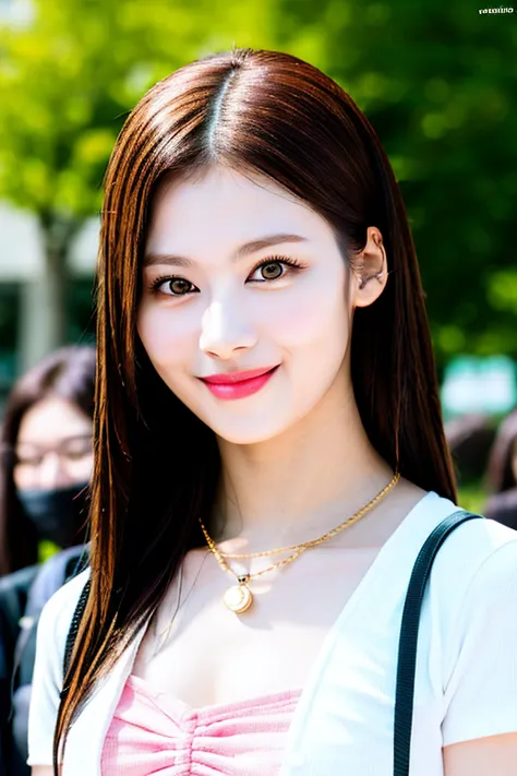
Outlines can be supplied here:
<path id="1" fill-rule="evenodd" d="M 372 447 L 351 386 L 336 383 L 285 433 L 260 444 L 219 440 L 223 476 L 214 539 L 227 552 L 255 552 L 323 535 L 364 506 L 393 478 Z"/>

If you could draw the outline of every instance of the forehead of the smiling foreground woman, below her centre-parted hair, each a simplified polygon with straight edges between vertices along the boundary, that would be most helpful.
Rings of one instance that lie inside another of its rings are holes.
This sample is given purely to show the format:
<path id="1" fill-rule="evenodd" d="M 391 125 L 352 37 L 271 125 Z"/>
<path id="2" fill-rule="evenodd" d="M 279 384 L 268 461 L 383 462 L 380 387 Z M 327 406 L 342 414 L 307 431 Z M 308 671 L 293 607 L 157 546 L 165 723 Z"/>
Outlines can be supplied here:
<path id="1" fill-rule="evenodd" d="M 151 211 L 146 253 L 193 255 L 235 249 L 266 234 L 328 237 L 329 227 L 311 207 L 273 181 L 211 167 L 203 175 L 164 181 Z"/>

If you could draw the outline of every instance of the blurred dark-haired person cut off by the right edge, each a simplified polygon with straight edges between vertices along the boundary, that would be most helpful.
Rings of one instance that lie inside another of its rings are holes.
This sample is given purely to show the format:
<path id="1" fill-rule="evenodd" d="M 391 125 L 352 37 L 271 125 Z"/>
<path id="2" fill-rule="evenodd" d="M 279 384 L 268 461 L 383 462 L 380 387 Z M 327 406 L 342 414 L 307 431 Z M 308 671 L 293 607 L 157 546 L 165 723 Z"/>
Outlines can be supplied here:
<path id="1" fill-rule="evenodd" d="M 517 528 L 517 408 L 501 423 L 489 457 L 486 517 Z"/>

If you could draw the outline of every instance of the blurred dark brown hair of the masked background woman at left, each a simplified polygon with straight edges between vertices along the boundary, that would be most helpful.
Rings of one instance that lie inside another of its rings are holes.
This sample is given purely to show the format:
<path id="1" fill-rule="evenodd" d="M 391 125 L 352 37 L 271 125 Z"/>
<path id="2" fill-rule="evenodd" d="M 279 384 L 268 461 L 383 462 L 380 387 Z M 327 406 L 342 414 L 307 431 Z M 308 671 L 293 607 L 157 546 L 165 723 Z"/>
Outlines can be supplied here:
<path id="1" fill-rule="evenodd" d="M 0 432 L 0 576 L 38 560 L 41 537 L 14 485 L 14 447 L 25 413 L 47 396 L 59 396 L 93 419 L 95 360 L 94 347 L 62 347 L 23 374 L 8 396 Z"/>

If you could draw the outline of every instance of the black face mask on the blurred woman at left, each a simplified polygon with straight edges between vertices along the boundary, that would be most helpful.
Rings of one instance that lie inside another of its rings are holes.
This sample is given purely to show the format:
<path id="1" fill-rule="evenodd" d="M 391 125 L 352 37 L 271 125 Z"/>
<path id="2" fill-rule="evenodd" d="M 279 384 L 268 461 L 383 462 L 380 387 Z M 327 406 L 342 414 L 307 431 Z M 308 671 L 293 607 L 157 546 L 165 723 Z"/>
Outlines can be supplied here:
<path id="1" fill-rule="evenodd" d="M 88 482 L 50 490 L 19 489 L 17 498 L 41 539 L 63 549 L 84 541 Z"/>

